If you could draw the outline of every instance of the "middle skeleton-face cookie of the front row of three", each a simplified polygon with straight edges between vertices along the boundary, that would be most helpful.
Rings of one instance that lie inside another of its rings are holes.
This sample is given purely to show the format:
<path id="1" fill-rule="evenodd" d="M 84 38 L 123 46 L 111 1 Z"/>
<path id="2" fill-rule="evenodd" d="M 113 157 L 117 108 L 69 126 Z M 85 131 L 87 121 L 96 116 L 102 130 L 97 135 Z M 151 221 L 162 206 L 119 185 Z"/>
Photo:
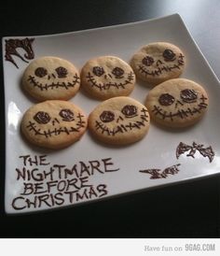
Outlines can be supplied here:
<path id="1" fill-rule="evenodd" d="M 120 96 L 101 103 L 89 115 L 89 130 L 99 140 L 113 145 L 138 141 L 149 129 L 147 108 L 136 100 Z"/>

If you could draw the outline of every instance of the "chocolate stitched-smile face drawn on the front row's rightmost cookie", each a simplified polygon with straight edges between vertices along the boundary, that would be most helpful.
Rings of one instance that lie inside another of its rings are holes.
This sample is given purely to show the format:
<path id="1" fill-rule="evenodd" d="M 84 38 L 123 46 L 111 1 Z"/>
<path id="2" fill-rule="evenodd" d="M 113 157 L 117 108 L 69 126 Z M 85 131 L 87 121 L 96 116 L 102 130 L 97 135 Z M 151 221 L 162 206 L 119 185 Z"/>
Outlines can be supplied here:
<path id="1" fill-rule="evenodd" d="M 152 112 L 161 119 L 173 121 L 175 118 L 186 119 L 188 116 L 199 114 L 208 106 L 208 99 L 191 89 L 180 92 L 180 97 L 175 98 L 171 93 L 162 93 L 158 97 L 159 106 L 154 105 Z M 175 112 L 169 111 L 166 107 L 174 104 Z M 190 107 L 188 107 L 190 104 Z M 186 107 L 185 107 L 186 106 Z"/>

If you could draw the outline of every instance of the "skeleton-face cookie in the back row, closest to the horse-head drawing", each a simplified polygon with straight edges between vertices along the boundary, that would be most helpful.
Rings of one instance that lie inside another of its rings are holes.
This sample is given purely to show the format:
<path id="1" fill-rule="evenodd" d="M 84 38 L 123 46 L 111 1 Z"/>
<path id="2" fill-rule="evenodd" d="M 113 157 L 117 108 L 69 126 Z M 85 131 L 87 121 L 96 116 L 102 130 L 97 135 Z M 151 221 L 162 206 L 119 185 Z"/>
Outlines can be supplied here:
<path id="1" fill-rule="evenodd" d="M 57 57 L 42 57 L 27 66 L 22 85 L 39 101 L 68 100 L 78 91 L 80 78 L 74 64 Z"/>

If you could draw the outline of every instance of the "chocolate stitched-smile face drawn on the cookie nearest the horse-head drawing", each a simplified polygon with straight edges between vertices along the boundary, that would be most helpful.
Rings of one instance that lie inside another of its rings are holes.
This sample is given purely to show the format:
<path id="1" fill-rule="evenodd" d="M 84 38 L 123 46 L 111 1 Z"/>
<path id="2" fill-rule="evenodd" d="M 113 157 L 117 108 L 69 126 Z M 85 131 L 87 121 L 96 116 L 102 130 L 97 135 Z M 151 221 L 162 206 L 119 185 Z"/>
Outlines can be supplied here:
<path id="1" fill-rule="evenodd" d="M 52 80 L 52 81 L 51 81 Z M 68 90 L 80 83 L 77 74 L 69 75 L 67 68 L 58 66 L 55 70 L 48 70 L 43 66 L 39 66 L 34 70 L 34 75 L 29 76 L 28 81 L 40 89 L 40 91 L 53 90 L 54 88 L 63 88 Z"/>

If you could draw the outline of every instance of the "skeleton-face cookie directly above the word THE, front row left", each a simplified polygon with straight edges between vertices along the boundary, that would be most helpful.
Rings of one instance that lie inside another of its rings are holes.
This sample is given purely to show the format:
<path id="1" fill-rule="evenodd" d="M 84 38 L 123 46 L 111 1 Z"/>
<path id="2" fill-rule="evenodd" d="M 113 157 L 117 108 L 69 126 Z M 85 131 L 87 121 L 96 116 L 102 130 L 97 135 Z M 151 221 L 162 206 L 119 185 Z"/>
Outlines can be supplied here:
<path id="1" fill-rule="evenodd" d="M 87 129 L 87 118 L 76 105 L 50 100 L 30 107 L 21 121 L 22 134 L 33 144 L 62 149 L 76 142 Z"/>

